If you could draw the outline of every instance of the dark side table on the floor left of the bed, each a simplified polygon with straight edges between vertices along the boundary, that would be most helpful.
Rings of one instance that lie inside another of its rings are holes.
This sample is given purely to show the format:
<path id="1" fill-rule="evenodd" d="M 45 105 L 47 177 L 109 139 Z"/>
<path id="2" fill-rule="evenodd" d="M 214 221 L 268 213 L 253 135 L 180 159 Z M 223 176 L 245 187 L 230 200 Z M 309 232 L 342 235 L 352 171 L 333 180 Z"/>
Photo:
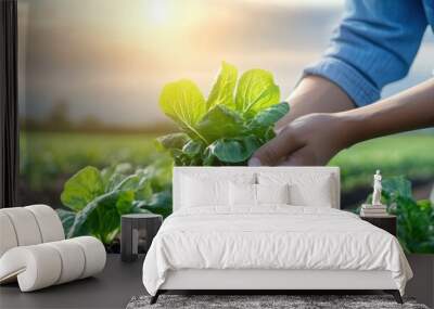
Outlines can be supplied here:
<path id="1" fill-rule="evenodd" d="M 120 259 L 135 261 L 148 253 L 152 240 L 162 226 L 163 217 L 154 214 L 130 214 L 120 219 Z"/>

